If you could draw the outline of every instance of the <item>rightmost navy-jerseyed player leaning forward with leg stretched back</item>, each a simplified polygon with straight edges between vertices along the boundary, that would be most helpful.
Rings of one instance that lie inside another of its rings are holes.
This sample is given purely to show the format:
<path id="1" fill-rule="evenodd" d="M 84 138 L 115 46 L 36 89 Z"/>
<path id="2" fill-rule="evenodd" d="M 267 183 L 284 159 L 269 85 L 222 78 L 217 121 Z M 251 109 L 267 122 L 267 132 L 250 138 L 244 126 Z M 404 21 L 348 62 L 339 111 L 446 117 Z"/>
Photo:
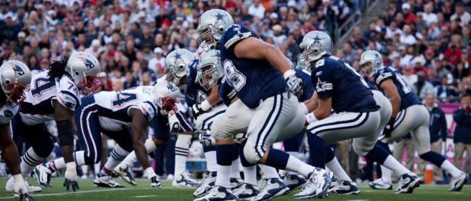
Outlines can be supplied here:
<path id="1" fill-rule="evenodd" d="M 373 61 L 378 62 L 374 64 Z M 362 71 L 371 79 L 384 94 L 391 98 L 393 106 L 391 119 L 384 128 L 384 134 L 377 142 L 379 146 L 389 150 L 387 143 L 396 141 L 411 132 L 412 141 L 421 159 L 432 162 L 452 175 L 450 191 L 461 191 L 468 176 L 447 161 L 443 155 L 430 150 L 429 112 L 420 103 L 417 96 L 411 93 L 404 78 L 392 67 L 384 67 L 382 56 L 377 51 L 366 51 L 360 60 Z M 389 167 L 388 167 L 389 168 Z M 373 189 L 391 189 L 391 171 L 382 166 L 382 177 L 370 183 Z M 400 180 L 405 179 L 403 175 Z M 401 182 L 400 182 L 401 184 Z"/>

